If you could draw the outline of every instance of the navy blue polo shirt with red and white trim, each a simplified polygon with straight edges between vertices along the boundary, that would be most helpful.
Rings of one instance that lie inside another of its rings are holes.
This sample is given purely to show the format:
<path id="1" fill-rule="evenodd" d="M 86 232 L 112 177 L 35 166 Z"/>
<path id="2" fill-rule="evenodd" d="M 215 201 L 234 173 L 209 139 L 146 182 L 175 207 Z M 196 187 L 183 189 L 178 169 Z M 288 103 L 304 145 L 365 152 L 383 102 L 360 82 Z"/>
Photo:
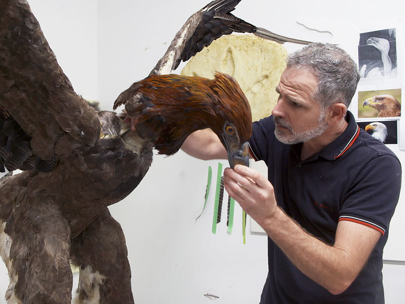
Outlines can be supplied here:
<path id="1" fill-rule="evenodd" d="M 279 207 L 311 235 L 333 245 L 338 222 L 349 220 L 379 231 L 365 267 L 342 294 L 333 295 L 305 276 L 268 238 L 269 272 L 261 304 L 384 303 L 382 254 L 398 202 L 401 166 L 394 153 L 357 126 L 301 161 L 302 144 L 281 143 L 270 116 L 253 124 L 251 153 L 268 167 Z"/>

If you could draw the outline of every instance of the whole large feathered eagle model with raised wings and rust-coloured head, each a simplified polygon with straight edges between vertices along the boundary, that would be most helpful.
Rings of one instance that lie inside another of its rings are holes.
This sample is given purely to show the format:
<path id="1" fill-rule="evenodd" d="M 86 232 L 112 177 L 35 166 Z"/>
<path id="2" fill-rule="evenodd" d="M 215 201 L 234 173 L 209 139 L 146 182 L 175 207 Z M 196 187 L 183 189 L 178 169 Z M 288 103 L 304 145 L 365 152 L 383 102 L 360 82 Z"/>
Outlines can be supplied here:
<path id="1" fill-rule="evenodd" d="M 237 83 L 220 73 L 159 75 L 222 34 L 257 31 L 229 13 L 239 1 L 194 14 L 199 21 L 176 35 L 150 77 L 119 95 L 119 115 L 96 112 L 74 92 L 26 1 L 0 2 L 0 168 L 25 170 L 0 180 L 9 303 L 70 303 L 69 260 L 80 269 L 74 303 L 134 303 L 125 237 L 107 206 L 139 184 L 152 149 L 172 155 L 190 133 L 211 128 L 231 166 L 247 164 L 251 113 Z"/>

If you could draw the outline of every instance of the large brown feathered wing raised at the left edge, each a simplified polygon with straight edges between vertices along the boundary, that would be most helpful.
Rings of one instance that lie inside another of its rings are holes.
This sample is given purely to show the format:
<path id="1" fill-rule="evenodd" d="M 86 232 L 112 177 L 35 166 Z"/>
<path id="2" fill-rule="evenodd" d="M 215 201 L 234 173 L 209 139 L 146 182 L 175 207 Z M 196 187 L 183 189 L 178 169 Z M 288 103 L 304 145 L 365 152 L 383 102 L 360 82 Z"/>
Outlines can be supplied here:
<path id="1" fill-rule="evenodd" d="M 0 128 L 0 169 L 35 156 L 54 163 L 65 134 L 83 145 L 100 134 L 95 110 L 74 92 L 26 1 L 0 2 Z"/>

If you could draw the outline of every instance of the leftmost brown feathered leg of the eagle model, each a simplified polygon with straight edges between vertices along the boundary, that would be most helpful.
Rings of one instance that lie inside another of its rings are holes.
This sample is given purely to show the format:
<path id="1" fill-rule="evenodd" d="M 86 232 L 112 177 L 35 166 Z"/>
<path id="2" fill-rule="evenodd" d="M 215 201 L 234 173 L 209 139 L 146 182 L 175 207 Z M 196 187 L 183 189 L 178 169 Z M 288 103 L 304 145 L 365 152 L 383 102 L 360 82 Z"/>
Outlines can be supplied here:
<path id="1" fill-rule="evenodd" d="M 11 242 L 9 272 L 17 277 L 6 296 L 23 304 L 70 304 L 70 228 L 59 208 L 16 204 L 4 232 Z"/>

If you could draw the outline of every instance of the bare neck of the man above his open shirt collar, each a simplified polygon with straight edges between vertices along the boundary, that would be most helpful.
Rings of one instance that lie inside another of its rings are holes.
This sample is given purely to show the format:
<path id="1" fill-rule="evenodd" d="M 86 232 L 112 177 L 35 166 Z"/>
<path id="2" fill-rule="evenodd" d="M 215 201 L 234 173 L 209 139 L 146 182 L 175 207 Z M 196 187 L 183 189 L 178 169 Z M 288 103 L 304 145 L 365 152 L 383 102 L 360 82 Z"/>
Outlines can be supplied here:
<path id="1" fill-rule="evenodd" d="M 303 142 L 301 148 L 301 160 L 306 160 L 321 149 L 325 148 L 328 144 L 338 138 L 346 130 L 348 125 L 349 124 L 346 120 L 343 119 L 342 122 L 334 128 L 328 128 L 321 135 Z"/>

